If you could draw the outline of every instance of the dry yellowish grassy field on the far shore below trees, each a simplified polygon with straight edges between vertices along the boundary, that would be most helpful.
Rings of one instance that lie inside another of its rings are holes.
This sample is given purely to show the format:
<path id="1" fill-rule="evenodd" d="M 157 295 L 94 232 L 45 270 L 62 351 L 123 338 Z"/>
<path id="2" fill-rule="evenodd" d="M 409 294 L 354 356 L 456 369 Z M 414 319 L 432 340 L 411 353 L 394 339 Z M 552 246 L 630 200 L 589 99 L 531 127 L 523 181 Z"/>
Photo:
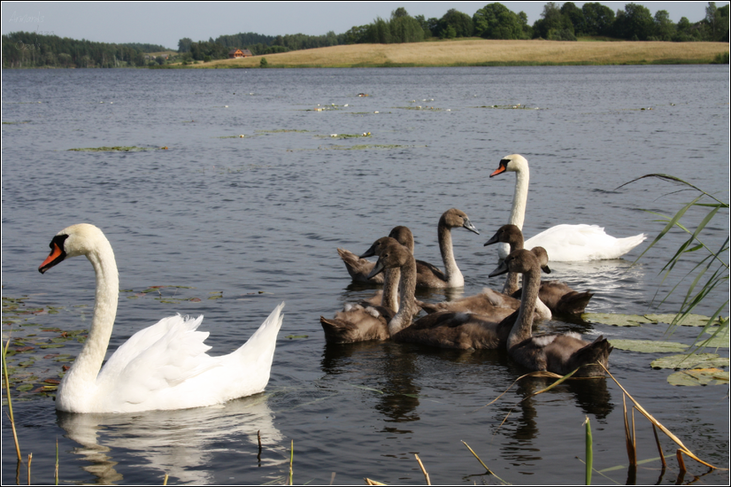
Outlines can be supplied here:
<path id="1" fill-rule="evenodd" d="M 719 53 L 727 51 L 727 43 L 460 39 L 432 43 L 342 45 L 267 54 L 265 58 L 269 67 L 707 64 Z M 222 59 L 181 67 L 258 67 L 261 58 Z"/>

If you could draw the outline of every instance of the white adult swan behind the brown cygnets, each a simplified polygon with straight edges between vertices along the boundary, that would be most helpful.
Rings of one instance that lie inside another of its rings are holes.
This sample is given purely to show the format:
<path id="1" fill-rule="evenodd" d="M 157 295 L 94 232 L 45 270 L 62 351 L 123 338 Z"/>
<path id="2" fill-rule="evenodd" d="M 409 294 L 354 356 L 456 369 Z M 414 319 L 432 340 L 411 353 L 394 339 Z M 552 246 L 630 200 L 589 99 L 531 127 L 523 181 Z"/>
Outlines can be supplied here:
<path id="1" fill-rule="evenodd" d="M 512 171 L 515 174 L 515 194 L 508 223 L 523 228 L 528 197 L 528 161 L 519 154 L 505 156 L 500 166 L 490 177 Z M 543 247 L 554 262 L 574 262 L 586 260 L 619 259 L 647 238 L 644 234 L 615 238 L 604 233 L 604 228 L 596 225 L 557 225 L 526 240 L 525 248 Z M 498 255 L 504 259 L 508 255 L 508 245 L 499 245 Z"/>

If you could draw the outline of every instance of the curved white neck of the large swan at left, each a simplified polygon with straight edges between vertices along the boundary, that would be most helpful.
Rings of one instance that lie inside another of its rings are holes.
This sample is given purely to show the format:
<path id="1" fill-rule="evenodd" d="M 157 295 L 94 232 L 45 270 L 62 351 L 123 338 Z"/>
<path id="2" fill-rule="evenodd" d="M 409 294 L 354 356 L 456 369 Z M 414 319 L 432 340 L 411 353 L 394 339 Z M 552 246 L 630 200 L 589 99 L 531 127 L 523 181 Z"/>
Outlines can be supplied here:
<path id="1" fill-rule="evenodd" d="M 69 387 L 70 390 L 94 387 L 96 375 L 102 367 L 109 339 L 112 336 L 114 318 L 117 314 L 119 274 L 112 245 L 104 238 L 104 242 L 98 242 L 95 248 L 88 251 L 86 255 L 96 274 L 94 316 L 86 344 L 73 362 L 71 369 L 66 373 L 61 390 L 58 391 L 57 400 L 59 401 L 65 399 L 62 393 L 64 387 Z M 70 385 L 72 383 L 73 386 Z"/>

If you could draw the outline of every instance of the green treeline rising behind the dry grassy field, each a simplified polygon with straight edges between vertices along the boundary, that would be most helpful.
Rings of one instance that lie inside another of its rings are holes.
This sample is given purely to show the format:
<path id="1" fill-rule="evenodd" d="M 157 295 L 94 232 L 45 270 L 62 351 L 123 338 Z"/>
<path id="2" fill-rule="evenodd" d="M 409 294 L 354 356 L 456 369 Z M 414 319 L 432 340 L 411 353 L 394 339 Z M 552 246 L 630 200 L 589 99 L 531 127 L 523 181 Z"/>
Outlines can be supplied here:
<path id="1" fill-rule="evenodd" d="M 627 41 L 710 41 L 728 42 L 729 7 L 709 2 L 705 18 L 696 22 L 682 17 L 676 24 L 665 10 L 653 16 L 643 5 L 627 4 L 617 12 L 589 2 L 581 8 L 573 2 L 549 2 L 543 6 L 541 19 L 528 25 L 525 12 L 512 12 L 503 4 L 487 4 L 472 16 L 455 9 L 441 19 L 412 17 L 404 7 L 391 12 L 390 19 L 377 17 L 372 23 L 351 27 L 344 34 L 327 35 L 259 35 L 254 33 L 221 35 L 218 39 L 194 43 L 181 39 L 178 51 L 190 60 L 227 58 L 235 48 L 248 49 L 254 55 L 312 49 L 356 43 L 419 43 L 430 38 L 455 39 L 548 39 L 576 41 L 578 37 L 609 37 Z"/>

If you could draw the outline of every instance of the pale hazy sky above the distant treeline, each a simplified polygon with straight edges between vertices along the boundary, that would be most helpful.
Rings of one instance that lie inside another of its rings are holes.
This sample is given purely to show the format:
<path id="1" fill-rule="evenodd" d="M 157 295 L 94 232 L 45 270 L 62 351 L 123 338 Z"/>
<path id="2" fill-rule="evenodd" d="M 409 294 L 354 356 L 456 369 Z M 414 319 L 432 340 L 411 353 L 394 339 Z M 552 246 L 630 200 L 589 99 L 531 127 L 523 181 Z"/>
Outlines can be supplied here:
<path id="1" fill-rule="evenodd" d="M 490 2 L 382 2 L 382 3 L 45 3 L 3 2 L 2 32 L 23 30 L 101 43 L 152 43 L 177 50 L 178 41 L 256 32 L 265 35 L 342 34 L 380 16 L 388 19 L 398 7 L 412 16 L 440 18 L 449 9 L 473 15 Z M 546 2 L 501 2 L 512 12 L 526 12 L 528 23 L 540 19 Z M 563 4 L 563 2 L 557 2 Z M 615 12 L 626 2 L 599 2 Z M 578 7 L 584 2 L 574 2 Z M 654 15 L 666 10 L 677 22 L 687 17 L 696 22 L 705 17 L 706 2 L 635 2 Z M 717 6 L 728 2 L 716 2 Z"/>

